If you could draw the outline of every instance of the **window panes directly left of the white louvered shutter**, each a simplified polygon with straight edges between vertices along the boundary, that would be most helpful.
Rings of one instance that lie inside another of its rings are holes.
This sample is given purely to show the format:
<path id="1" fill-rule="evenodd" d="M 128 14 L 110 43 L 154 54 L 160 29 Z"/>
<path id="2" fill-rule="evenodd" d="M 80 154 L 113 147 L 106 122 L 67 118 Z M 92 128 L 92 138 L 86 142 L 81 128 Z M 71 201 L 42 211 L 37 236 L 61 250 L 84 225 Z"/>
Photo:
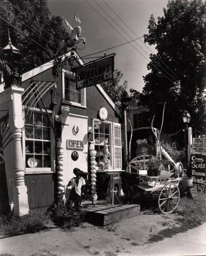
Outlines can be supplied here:
<path id="1" fill-rule="evenodd" d="M 105 145 L 108 146 L 109 151 L 111 150 L 110 124 L 94 121 L 94 127 L 94 149 L 96 150 L 96 162 L 98 166 L 101 166 L 101 163 L 104 162 Z"/>

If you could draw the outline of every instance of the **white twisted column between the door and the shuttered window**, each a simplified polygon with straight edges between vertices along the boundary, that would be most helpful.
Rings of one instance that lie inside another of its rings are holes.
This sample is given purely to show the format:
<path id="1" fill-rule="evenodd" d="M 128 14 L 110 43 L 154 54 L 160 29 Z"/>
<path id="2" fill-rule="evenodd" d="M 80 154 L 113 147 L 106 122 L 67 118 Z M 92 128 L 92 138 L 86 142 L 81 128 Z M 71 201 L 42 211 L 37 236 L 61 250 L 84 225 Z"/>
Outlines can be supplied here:
<path id="1" fill-rule="evenodd" d="M 98 197 L 96 194 L 96 151 L 94 150 L 93 141 L 91 141 L 89 146 L 89 154 L 91 156 L 91 194 L 94 202 L 97 201 Z"/>

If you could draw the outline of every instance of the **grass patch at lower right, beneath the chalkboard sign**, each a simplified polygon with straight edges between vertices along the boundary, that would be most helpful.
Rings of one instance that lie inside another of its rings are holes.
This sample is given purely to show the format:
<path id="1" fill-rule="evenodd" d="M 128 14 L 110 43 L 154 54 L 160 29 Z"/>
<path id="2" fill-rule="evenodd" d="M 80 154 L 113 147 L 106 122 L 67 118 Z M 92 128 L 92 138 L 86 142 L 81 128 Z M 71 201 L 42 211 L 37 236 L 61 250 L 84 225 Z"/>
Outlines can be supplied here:
<path id="1" fill-rule="evenodd" d="M 188 231 L 206 222 L 206 195 L 198 192 L 197 198 L 190 199 L 183 197 L 180 199 L 179 207 L 175 212 L 175 221 L 178 227 L 166 228 L 156 235 L 151 235 L 149 243 L 161 241 L 166 237 L 171 237 L 177 233 Z M 164 225 L 165 226 L 165 225 Z"/>

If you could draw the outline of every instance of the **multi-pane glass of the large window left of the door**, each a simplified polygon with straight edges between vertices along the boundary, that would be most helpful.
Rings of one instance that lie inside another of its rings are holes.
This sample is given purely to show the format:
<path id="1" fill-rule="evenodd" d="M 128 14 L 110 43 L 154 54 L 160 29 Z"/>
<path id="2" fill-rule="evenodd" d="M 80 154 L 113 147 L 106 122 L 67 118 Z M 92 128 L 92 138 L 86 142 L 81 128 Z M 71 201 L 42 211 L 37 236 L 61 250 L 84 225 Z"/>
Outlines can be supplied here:
<path id="1" fill-rule="evenodd" d="M 26 168 L 51 167 L 50 121 L 47 113 L 25 112 Z"/>

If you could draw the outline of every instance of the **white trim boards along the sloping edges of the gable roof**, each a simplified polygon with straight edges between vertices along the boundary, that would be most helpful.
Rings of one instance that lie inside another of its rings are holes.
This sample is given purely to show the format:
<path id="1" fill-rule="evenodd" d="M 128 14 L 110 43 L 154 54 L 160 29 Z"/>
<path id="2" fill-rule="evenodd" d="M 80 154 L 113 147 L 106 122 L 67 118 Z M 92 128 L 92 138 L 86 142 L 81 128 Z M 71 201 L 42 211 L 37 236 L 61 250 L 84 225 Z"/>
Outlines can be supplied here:
<path id="1" fill-rule="evenodd" d="M 65 57 L 69 57 L 70 55 L 71 55 L 71 50 L 69 52 L 67 52 L 67 54 L 64 54 L 61 56 L 62 61 L 64 61 Z M 81 59 L 81 57 L 79 57 L 79 55 L 77 54 L 76 51 L 74 51 L 74 56 L 77 58 L 77 61 L 79 62 L 79 64 L 84 65 L 83 60 Z M 42 64 L 41 66 L 35 67 L 34 69 L 31 69 L 30 71 L 22 74 L 21 82 L 31 79 L 31 78 L 33 78 L 33 76 L 37 76 L 37 74 L 40 74 L 40 73 L 50 69 L 53 66 L 54 66 L 54 59 L 45 64 Z M 113 110 L 115 110 L 115 112 L 118 114 L 118 116 L 121 117 L 120 110 L 117 108 L 115 103 L 111 100 L 110 96 L 108 96 L 106 91 L 103 90 L 101 85 L 96 84 L 96 88 L 98 89 L 98 91 L 100 91 L 101 95 L 110 104 L 110 106 L 113 108 Z"/>

